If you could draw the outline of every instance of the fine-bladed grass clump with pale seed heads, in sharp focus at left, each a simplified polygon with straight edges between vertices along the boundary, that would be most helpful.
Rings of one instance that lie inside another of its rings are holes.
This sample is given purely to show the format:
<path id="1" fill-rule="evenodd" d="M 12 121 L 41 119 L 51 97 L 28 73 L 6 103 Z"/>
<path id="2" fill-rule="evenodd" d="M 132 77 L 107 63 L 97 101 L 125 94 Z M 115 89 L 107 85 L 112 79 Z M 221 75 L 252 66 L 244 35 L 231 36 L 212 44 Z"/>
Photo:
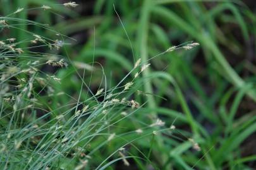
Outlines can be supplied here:
<path id="1" fill-rule="evenodd" d="M 70 2 L 63 6 L 74 8 L 77 4 Z M 45 5 L 41 8 L 52 9 Z M 18 8 L 13 14 L 24 10 Z M 19 20 L 11 15 L 0 17 L 1 30 L 18 29 L 16 25 L 20 24 L 51 30 L 46 25 Z M 167 123 L 157 117 L 153 120 L 145 117 L 141 121 L 134 116 L 140 114 L 145 105 L 135 101 L 133 94 L 137 92 L 135 84 L 139 82 L 138 76 L 150 66 L 147 64 L 149 60 L 142 63 L 139 59 L 116 86 L 107 88 L 107 84 L 103 84 L 93 93 L 87 82 L 83 81 L 85 67 L 82 67 L 84 70 L 81 76 L 77 71 L 81 67 L 58 55 L 58 51 L 68 45 L 64 43 L 64 35 L 54 31 L 57 38 L 52 40 L 28 30 L 23 31 L 27 33 L 26 40 L 16 41 L 16 38 L 11 37 L 0 41 L 1 169 L 105 169 L 119 160 L 125 166 L 130 166 L 130 159 L 142 160 L 157 169 L 150 161 L 150 152 L 146 155 L 133 144 L 143 138 L 154 139 L 159 133 L 171 135 L 176 130 L 174 125 L 168 127 Z M 22 44 L 29 45 L 19 48 Z M 166 52 L 180 48 L 189 50 L 196 45 L 198 44 L 186 43 L 171 47 Z M 39 47 L 46 48 L 51 53 L 37 50 Z M 62 79 L 54 72 L 44 72 L 44 67 L 59 70 L 75 68 L 78 73 L 76 76 L 82 81 L 77 95 L 70 96 L 65 91 L 59 91 L 56 84 L 61 84 Z M 94 66 L 90 65 L 90 68 L 93 71 Z M 126 77 L 134 72 L 133 79 L 126 82 Z M 102 73 L 104 74 L 104 70 Z M 106 82 L 106 77 L 103 79 Z M 85 89 L 87 95 L 84 97 Z M 68 96 L 70 100 L 63 103 L 62 96 Z M 57 100 L 54 101 L 57 106 L 52 106 L 54 99 Z M 125 120 L 136 123 L 127 129 L 119 127 L 120 122 Z M 197 142 L 193 139 L 190 141 L 195 149 L 200 149 Z M 151 144 L 153 142 L 154 140 Z M 139 154 L 134 156 L 130 147 Z M 111 154 L 100 157 L 99 153 L 106 150 Z"/>

